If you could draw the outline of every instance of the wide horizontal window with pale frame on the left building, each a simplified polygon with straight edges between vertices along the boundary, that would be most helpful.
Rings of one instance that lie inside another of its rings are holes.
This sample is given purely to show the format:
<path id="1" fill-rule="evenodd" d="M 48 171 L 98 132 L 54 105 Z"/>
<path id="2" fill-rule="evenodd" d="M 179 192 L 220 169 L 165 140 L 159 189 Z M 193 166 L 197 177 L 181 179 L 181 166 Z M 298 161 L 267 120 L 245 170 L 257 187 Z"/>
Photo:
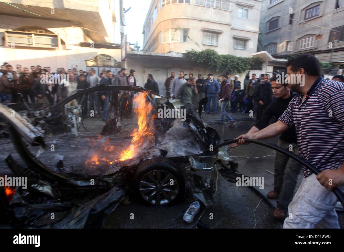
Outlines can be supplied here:
<path id="1" fill-rule="evenodd" d="M 6 31 L 6 42 L 9 46 L 14 43 L 15 46 L 58 48 L 58 36 L 55 34 Z"/>

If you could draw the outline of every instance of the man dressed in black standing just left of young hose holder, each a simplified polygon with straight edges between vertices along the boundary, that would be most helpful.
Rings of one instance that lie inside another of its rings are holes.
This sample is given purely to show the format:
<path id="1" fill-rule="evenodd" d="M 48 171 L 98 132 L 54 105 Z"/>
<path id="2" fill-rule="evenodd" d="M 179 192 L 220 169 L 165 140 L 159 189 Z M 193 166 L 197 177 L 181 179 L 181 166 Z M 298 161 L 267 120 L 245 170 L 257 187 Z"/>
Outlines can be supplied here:
<path id="1" fill-rule="evenodd" d="M 256 85 L 254 98 L 258 102 L 256 121 L 259 121 L 264 110 L 271 103 L 272 98 L 271 83 L 269 82 L 269 76 L 267 74 L 264 75 L 264 81 Z"/>

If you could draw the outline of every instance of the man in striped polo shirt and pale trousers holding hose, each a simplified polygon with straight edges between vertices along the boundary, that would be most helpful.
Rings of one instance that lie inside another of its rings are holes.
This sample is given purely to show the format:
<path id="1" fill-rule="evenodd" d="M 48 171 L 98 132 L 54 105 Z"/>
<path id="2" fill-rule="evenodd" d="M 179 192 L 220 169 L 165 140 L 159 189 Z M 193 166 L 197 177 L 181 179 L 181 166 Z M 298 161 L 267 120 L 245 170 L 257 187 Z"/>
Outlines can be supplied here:
<path id="1" fill-rule="evenodd" d="M 240 135 L 238 143 L 245 144 L 245 138 L 274 137 L 294 126 L 300 157 L 322 172 L 315 176 L 303 167 L 304 178 L 289 204 L 283 228 L 314 228 L 318 224 L 339 228 L 334 210 L 337 198 L 329 190 L 343 184 L 344 177 L 344 83 L 324 80 L 321 63 L 307 54 L 289 59 L 287 73 L 291 88 L 300 93 L 276 123 Z M 301 81 L 298 76 L 302 76 Z"/>

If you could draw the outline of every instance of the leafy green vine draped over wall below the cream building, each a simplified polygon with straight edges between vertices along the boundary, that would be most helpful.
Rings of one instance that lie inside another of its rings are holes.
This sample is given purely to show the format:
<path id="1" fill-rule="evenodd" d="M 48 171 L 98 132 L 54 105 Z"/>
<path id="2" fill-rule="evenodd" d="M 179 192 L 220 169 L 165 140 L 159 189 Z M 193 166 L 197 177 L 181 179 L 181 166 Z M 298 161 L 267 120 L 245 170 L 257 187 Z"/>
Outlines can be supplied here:
<path id="1" fill-rule="evenodd" d="M 256 57 L 238 57 L 234 55 L 219 55 L 213 49 L 196 51 L 187 50 L 185 56 L 195 62 L 195 65 L 214 68 L 219 72 L 244 73 L 249 69 L 261 70 L 264 62 L 261 58 Z"/>

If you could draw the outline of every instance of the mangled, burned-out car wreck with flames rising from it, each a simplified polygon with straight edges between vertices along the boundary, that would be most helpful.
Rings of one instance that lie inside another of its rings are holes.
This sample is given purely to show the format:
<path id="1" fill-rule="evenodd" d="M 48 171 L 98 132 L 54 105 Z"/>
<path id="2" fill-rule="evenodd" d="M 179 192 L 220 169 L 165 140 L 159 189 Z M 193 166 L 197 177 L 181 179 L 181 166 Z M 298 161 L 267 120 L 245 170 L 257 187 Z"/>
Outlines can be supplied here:
<path id="1" fill-rule="evenodd" d="M 80 133 L 81 127 L 88 131 L 83 108 L 67 104 L 104 90 L 112 94 L 105 126 L 99 135 Z M 126 137 L 118 135 L 121 91 L 138 93 L 138 127 Z M 199 111 L 204 103 L 206 98 Z M 18 154 L 6 157 L 8 176 L 28 180 L 27 189 L 0 187 L 2 221 L 13 227 L 99 228 L 119 204 L 133 200 L 160 207 L 190 197 L 211 206 L 218 171 L 233 180 L 237 164 L 226 146 L 214 148 L 223 141 L 201 112 L 201 120 L 189 114 L 185 121 L 158 117 L 159 108 L 178 115 L 183 105 L 136 86 L 79 90 L 44 110 L 24 102 L 0 105 Z"/>

